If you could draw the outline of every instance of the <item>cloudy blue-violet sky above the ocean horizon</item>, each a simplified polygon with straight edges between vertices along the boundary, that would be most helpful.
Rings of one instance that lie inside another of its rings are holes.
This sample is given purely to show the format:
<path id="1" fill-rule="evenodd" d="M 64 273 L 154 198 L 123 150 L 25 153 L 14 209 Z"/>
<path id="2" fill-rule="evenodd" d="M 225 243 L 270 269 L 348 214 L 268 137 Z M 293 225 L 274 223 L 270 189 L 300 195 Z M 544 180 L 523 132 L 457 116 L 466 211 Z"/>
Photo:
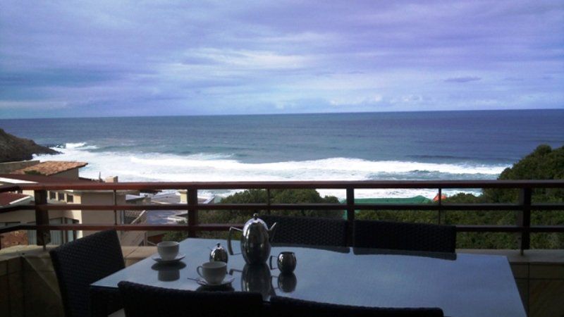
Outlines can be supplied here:
<path id="1" fill-rule="evenodd" d="M 564 1 L 0 2 L 0 118 L 564 108 Z"/>

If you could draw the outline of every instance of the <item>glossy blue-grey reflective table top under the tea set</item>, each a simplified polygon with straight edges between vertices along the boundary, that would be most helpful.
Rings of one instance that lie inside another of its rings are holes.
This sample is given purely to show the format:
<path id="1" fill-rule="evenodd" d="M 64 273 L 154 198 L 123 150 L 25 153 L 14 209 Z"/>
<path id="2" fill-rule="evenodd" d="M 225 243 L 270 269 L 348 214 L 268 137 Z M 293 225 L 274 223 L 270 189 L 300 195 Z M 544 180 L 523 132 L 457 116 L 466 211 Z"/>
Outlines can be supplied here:
<path id="1" fill-rule="evenodd" d="M 222 240 L 184 240 L 180 254 L 186 257 L 180 263 L 163 265 L 149 256 L 92 286 L 116 288 L 128 280 L 202 290 L 194 280 L 196 268 L 209 261 L 216 242 L 226 247 Z M 281 251 L 295 252 L 293 274 L 281 275 L 266 264 L 247 266 L 243 256 L 229 256 L 228 271 L 235 277 L 231 287 L 260 292 L 265 300 L 278 295 L 357 306 L 440 307 L 446 316 L 526 316 L 505 256 L 296 245 L 273 246 L 271 255 Z"/>

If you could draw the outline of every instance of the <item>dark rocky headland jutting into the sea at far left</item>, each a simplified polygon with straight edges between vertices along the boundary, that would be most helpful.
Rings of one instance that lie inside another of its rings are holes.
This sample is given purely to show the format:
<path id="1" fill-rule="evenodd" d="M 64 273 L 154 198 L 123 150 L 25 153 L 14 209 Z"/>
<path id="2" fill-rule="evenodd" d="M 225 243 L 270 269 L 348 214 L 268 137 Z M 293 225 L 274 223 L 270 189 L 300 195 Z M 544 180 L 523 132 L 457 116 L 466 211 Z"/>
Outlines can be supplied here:
<path id="1" fill-rule="evenodd" d="M 23 139 L 0 129 L 0 163 L 32 159 L 33 154 L 59 154 L 61 152 L 42 147 L 31 139 Z"/>

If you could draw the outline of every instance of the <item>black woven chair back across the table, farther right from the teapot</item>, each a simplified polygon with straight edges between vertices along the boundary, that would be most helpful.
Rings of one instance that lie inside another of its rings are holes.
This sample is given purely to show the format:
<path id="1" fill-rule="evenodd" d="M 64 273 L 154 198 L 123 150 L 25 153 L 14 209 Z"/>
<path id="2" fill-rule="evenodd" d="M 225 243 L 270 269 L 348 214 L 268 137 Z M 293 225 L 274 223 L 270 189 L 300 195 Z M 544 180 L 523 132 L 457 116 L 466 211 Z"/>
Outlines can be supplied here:
<path id="1" fill-rule="evenodd" d="M 427 223 L 355 220 L 355 247 L 454 253 L 456 228 Z"/>

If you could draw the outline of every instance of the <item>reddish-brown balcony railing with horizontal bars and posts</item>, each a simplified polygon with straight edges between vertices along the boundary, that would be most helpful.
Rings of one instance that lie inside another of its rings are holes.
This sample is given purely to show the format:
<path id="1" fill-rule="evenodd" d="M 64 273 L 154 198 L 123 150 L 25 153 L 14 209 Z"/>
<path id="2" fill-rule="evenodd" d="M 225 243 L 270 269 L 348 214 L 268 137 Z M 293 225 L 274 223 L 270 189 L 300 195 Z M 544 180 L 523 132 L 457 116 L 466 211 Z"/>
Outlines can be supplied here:
<path id="1" fill-rule="evenodd" d="M 443 204 L 441 192 L 443 189 L 518 189 L 520 199 L 517 204 Z M 36 224 L 18 224 L 0 228 L 0 234 L 16 230 L 37 230 L 37 244 L 44 245 L 48 241 L 49 230 L 185 230 L 188 237 L 196 237 L 199 231 L 228 230 L 229 227 L 241 227 L 242 224 L 206 223 L 198 221 L 198 211 L 206 210 L 343 210 L 346 211 L 346 220 L 352 229 L 356 210 L 411 210 L 411 211 L 436 211 L 437 222 L 441 223 L 443 211 L 517 211 L 515 225 L 456 225 L 458 232 L 515 232 L 520 235 L 521 251 L 529 249 L 530 234 L 532 232 L 564 232 L 563 225 L 531 225 L 531 211 L 564 210 L 564 204 L 532 204 L 532 192 L 541 188 L 564 188 L 564 180 L 444 180 L 444 181 L 295 181 L 295 182 L 118 182 L 101 183 L 92 182 L 66 182 L 56 184 L 19 184 L 0 186 L 0 192 L 16 190 L 33 190 L 35 192 L 35 205 L 12 206 L 2 209 L 35 210 Z M 114 204 L 110 205 L 85 205 L 85 204 L 47 204 L 47 191 L 49 190 L 92 190 L 113 191 Z M 188 193 L 187 204 L 142 204 L 118 205 L 116 192 L 118 190 L 154 191 L 159 189 L 186 189 Z M 264 204 L 199 204 L 198 190 L 213 189 L 266 189 L 268 199 Z M 346 199 L 344 204 L 271 204 L 271 189 L 344 189 Z M 436 204 L 357 204 L 355 203 L 355 190 L 357 189 L 436 189 L 439 192 L 439 201 Z M 122 225 L 114 224 L 49 224 L 49 211 L 54 210 L 92 210 L 114 211 L 118 210 L 187 210 L 188 221 L 178 225 Z M 352 230 L 349 230 L 349 241 L 352 241 Z"/>

